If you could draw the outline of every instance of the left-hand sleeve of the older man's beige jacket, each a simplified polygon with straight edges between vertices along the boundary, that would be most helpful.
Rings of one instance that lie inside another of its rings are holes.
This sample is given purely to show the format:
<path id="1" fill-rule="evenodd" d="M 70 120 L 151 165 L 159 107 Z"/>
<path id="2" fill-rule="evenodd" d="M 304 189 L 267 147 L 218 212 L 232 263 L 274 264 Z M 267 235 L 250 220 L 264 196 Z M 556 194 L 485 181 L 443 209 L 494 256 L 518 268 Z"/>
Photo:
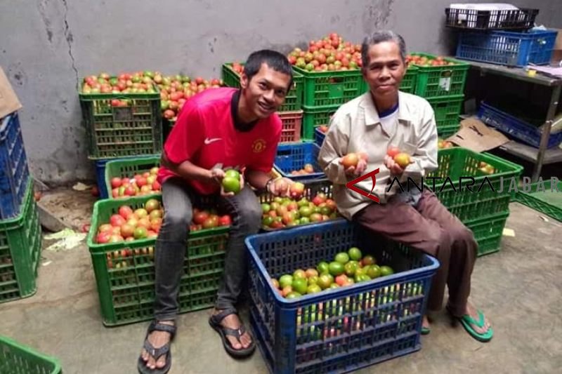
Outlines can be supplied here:
<path id="1" fill-rule="evenodd" d="M 329 130 L 318 154 L 320 167 L 327 178 L 336 185 L 345 185 L 348 182 L 344 166 L 339 161 L 347 154 L 349 123 L 350 119 L 346 114 L 341 111 L 336 112 L 329 121 Z"/>

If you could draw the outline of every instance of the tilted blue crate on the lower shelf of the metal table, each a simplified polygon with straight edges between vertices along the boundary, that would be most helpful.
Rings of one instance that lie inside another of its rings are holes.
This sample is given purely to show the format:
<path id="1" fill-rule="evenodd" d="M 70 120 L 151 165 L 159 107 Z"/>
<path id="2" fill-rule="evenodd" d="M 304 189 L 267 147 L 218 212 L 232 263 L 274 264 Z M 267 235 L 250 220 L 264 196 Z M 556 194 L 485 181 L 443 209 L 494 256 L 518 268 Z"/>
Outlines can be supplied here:
<path id="1" fill-rule="evenodd" d="M 491 105 L 481 102 L 478 109 L 478 117 L 490 126 L 494 126 L 498 130 L 511 135 L 533 147 L 539 147 L 541 131 L 536 126 L 521 121 L 515 116 L 511 116 L 506 112 L 502 112 Z M 556 147 L 562 142 L 562 132 L 551 134 L 548 146 Z"/>

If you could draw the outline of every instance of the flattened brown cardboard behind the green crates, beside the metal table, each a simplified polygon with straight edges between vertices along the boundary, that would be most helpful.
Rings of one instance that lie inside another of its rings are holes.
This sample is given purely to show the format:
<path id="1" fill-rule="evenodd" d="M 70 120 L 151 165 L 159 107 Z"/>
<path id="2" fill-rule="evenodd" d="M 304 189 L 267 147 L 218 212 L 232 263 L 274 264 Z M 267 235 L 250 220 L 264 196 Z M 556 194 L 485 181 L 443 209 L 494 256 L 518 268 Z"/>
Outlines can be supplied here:
<path id="1" fill-rule="evenodd" d="M 505 135 L 489 128 L 476 117 L 462 120 L 460 130 L 447 140 L 474 152 L 488 151 L 509 142 Z"/>

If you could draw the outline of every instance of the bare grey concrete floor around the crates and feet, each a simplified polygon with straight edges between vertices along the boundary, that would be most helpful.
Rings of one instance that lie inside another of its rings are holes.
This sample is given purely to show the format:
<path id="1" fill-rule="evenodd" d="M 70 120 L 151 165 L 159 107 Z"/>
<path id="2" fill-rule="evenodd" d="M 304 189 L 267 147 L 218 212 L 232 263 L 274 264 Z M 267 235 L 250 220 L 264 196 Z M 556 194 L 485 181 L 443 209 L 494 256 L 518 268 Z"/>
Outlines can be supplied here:
<path id="1" fill-rule="evenodd" d="M 472 300 L 492 321 L 492 342 L 476 342 L 440 314 L 421 351 L 360 373 L 561 373 L 562 225 L 512 203 L 507 227 L 516 236 L 479 258 L 473 274 Z M 65 374 L 136 373 L 148 323 L 103 326 L 86 245 L 43 257 L 51 263 L 39 269 L 37 294 L 0 304 L 0 334 L 57 356 Z M 266 373 L 258 350 L 230 359 L 207 324 L 210 312 L 179 317 L 170 373 Z"/>

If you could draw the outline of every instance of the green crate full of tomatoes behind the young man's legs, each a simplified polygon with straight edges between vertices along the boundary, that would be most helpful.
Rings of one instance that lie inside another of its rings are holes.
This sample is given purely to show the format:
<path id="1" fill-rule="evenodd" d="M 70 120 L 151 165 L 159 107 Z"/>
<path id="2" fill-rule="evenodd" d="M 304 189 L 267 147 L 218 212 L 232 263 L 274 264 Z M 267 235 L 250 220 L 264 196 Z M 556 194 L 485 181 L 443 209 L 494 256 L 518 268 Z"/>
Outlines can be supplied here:
<path id="1" fill-rule="evenodd" d="M 182 313 L 214 304 L 231 223 L 208 201 L 194 206 L 178 295 Z M 162 195 L 94 204 L 87 242 L 106 326 L 152 318 L 155 243 L 163 216 Z"/>

